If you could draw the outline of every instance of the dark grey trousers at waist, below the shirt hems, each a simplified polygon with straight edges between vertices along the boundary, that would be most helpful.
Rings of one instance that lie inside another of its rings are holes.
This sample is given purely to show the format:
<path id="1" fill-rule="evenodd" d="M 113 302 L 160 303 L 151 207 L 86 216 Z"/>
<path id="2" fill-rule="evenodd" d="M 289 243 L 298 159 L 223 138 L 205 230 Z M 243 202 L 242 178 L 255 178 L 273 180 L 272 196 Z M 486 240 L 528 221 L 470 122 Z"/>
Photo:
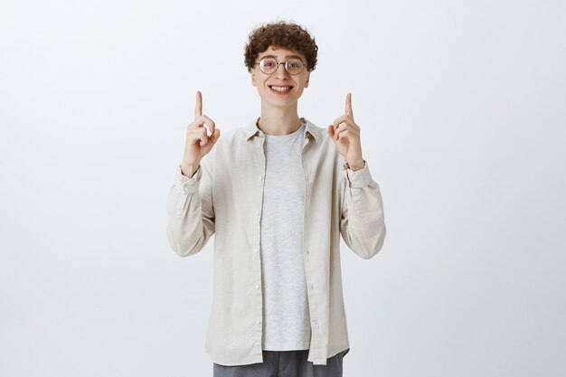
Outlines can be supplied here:
<path id="1" fill-rule="evenodd" d="M 307 361 L 308 350 L 263 351 L 263 363 L 226 366 L 213 363 L 213 377 L 342 377 L 344 351 L 326 365 Z"/>

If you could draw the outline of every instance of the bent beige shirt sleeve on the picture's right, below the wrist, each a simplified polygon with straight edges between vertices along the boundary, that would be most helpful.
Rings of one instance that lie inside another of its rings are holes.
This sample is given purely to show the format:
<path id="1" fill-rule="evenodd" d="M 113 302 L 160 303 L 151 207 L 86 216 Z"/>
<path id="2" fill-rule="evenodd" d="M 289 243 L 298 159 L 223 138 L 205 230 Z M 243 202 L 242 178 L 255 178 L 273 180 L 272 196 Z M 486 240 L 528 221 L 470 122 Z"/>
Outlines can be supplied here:
<path id="1" fill-rule="evenodd" d="M 343 173 L 346 184 L 340 233 L 351 250 L 370 259 L 382 250 L 385 240 L 382 193 L 365 160 L 363 168 L 355 172 L 344 163 Z"/>

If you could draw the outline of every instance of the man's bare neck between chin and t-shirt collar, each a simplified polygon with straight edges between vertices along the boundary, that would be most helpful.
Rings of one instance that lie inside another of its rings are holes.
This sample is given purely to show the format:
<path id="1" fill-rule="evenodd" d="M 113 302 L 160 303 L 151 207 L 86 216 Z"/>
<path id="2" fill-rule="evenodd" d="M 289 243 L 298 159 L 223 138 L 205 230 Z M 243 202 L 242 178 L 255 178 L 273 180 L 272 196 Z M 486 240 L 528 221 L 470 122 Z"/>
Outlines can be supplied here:
<path id="1" fill-rule="evenodd" d="M 301 127 L 297 115 L 297 102 L 287 108 L 276 108 L 261 101 L 261 117 L 258 127 L 267 135 L 288 135 Z"/>

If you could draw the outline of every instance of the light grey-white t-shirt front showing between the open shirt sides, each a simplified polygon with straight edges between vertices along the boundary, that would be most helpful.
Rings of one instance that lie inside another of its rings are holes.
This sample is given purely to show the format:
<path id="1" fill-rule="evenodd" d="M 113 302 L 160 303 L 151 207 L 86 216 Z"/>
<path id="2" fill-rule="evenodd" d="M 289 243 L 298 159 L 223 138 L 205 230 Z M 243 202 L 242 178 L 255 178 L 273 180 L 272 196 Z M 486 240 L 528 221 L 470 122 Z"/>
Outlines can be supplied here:
<path id="1" fill-rule="evenodd" d="M 292 134 L 265 135 L 260 246 L 266 351 L 307 350 L 310 345 L 303 259 L 305 129 L 303 124 Z"/>

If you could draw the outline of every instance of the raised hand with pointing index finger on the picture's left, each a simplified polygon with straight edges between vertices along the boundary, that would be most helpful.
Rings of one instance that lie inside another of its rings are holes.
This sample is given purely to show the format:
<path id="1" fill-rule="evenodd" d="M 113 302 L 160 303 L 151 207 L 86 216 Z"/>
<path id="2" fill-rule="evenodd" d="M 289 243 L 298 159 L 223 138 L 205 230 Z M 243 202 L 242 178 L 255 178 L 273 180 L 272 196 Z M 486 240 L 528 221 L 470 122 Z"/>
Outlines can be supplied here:
<path id="1" fill-rule="evenodd" d="M 208 126 L 211 134 L 207 133 Z M 187 127 L 184 145 L 183 163 L 181 170 L 184 175 L 191 176 L 201 163 L 201 159 L 212 150 L 220 137 L 220 129 L 216 128 L 211 118 L 203 115 L 203 94 L 197 90 L 196 104 L 194 105 L 194 120 Z"/>

